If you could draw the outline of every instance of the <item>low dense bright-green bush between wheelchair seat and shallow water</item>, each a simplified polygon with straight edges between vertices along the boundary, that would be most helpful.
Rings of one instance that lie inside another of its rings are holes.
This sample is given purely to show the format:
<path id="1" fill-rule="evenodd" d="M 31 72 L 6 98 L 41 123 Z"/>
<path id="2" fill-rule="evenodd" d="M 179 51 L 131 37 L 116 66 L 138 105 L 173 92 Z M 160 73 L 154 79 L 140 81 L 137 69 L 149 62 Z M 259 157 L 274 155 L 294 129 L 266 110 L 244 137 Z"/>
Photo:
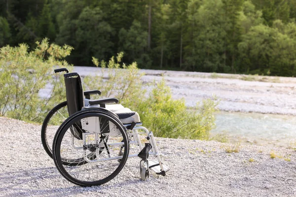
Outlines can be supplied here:
<path id="1" fill-rule="evenodd" d="M 162 80 L 153 86 L 147 99 L 137 104 L 136 110 L 155 136 L 209 139 L 209 131 L 215 127 L 216 105 L 214 100 L 206 99 L 188 110 L 184 99 L 172 99 L 170 88 Z"/>

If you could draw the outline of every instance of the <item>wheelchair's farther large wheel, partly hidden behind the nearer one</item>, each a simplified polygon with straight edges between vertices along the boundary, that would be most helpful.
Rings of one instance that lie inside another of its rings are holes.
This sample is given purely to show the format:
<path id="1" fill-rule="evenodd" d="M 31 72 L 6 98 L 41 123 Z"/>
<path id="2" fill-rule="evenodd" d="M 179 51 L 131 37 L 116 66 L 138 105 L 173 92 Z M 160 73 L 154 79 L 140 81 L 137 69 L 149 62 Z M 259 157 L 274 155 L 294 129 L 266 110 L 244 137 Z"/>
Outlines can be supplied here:
<path id="1" fill-rule="evenodd" d="M 52 158 L 53 138 L 58 128 L 69 117 L 67 101 L 61 102 L 49 111 L 41 128 L 41 141 L 44 150 Z"/>

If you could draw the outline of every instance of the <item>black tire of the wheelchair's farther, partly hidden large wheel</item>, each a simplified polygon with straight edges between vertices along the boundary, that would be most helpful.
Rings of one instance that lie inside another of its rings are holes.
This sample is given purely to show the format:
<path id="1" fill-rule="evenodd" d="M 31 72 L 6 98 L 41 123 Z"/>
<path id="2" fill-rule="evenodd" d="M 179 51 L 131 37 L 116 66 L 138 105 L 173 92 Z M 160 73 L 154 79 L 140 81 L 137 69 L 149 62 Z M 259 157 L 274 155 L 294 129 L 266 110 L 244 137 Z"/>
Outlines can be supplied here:
<path id="1" fill-rule="evenodd" d="M 47 155 L 49 157 L 52 158 L 52 144 L 48 144 L 48 139 L 46 138 L 46 130 L 47 130 L 47 126 L 48 123 L 50 121 L 50 118 L 60 109 L 67 107 L 67 101 L 61 102 L 60 104 L 56 105 L 52 110 L 49 111 L 49 113 L 47 114 L 47 116 L 45 117 L 43 124 L 42 124 L 42 128 L 41 128 L 41 141 L 42 141 L 42 145 L 43 148 L 45 150 L 45 152 L 47 153 Z M 67 117 L 68 118 L 68 117 Z"/>

